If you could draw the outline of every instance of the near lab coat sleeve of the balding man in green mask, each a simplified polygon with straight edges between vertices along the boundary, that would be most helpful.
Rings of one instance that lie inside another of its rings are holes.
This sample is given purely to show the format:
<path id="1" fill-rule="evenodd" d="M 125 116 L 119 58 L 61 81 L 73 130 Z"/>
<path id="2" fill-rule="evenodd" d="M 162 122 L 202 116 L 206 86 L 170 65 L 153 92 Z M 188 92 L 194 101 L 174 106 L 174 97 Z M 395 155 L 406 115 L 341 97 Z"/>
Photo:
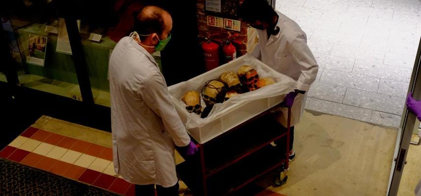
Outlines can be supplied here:
<path id="1" fill-rule="evenodd" d="M 167 85 L 159 73 L 152 73 L 141 85 L 140 94 L 150 109 L 162 119 L 165 130 L 179 147 L 187 146 L 190 137 L 171 102 Z"/>

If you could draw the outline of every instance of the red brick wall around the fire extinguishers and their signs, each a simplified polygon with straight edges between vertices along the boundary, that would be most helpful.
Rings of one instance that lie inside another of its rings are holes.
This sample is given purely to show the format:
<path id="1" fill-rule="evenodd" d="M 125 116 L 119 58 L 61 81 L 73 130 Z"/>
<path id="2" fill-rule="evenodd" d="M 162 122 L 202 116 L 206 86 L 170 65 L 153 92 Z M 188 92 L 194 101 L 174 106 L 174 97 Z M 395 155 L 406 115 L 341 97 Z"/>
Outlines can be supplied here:
<path id="1" fill-rule="evenodd" d="M 204 38 L 209 34 L 218 33 L 219 35 L 215 38 L 226 40 L 229 35 L 234 33 L 239 33 L 240 35 L 236 38 L 242 42 L 241 46 L 236 45 L 237 48 L 237 57 L 240 57 L 247 53 L 247 27 L 246 24 L 241 22 L 241 31 L 234 31 L 225 28 L 208 26 L 207 20 L 208 15 L 205 11 L 205 0 L 196 0 L 197 3 L 197 26 L 199 28 L 199 38 L 201 38 L 200 44 L 203 43 Z M 230 18 L 235 19 L 235 18 Z M 222 48 L 222 47 L 221 47 Z"/>

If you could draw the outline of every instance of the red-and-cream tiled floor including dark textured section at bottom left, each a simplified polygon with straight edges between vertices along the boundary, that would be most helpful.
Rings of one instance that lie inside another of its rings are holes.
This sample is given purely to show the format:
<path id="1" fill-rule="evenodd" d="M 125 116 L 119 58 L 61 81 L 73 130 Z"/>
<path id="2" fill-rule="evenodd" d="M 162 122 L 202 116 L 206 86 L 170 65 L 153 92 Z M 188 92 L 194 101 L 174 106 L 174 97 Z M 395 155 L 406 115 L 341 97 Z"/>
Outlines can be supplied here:
<path id="1" fill-rule="evenodd" d="M 112 156 L 110 147 L 29 127 L 0 151 L 8 159 L 0 158 L 0 193 L 134 196 L 134 185 L 114 172 Z M 283 195 L 264 190 L 256 196 Z"/>

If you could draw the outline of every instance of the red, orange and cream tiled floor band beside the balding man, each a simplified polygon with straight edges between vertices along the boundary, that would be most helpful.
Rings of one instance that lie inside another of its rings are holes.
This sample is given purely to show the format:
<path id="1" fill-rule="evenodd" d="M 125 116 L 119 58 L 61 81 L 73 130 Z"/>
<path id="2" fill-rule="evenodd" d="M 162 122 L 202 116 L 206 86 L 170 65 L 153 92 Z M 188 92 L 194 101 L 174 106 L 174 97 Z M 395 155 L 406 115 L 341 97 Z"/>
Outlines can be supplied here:
<path id="1" fill-rule="evenodd" d="M 29 127 L 3 148 L 0 151 L 0 158 L 51 172 L 113 193 L 126 196 L 134 195 L 133 184 L 126 182 L 114 172 L 112 148 L 86 142 L 80 140 L 80 138 L 68 137 L 69 135 L 66 132 L 63 132 L 66 136 L 57 134 L 58 130 L 60 132 L 62 129 L 72 129 L 72 126 L 77 126 L 73 123 L 66 123 L 65 125 L 63 123 L 65 122 L 41 117 L 34 126 Z M 40 125 L 49 127 L 51 124 L 54 124 L 58 130 L 47 131 L 36 128 Z M 73 132 L 76 132 L 73 134 L 77 134 L 78 131 L 73 128 Z M 96 136 L 97 140 L 101 140 L 99 143 L 105 141 L 111 143 L 111 133 L 99 130 L 90 131 L 87 127 L 84 131 L 85 135 L 82 138 L 94 138 Z M 182 161 L 182 158 L 176 158 L 177 163 Z M 184 183 L 180 181 L 181 196 L 191 196 L 191 194 L 185 192 L 186 188 Z M 258 196 L 283 195 L 264 190 Z"/>

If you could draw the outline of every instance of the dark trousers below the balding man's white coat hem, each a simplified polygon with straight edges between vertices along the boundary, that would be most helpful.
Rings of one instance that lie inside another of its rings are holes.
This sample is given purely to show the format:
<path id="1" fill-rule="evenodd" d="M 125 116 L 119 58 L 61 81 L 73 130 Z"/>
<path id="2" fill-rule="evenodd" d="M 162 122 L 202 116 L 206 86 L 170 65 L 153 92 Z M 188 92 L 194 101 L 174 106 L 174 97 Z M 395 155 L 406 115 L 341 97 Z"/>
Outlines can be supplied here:
<path id="1" fill-rule="evenodd" d="M 157 196 L 179 196 L 179 182 L 172 187 L 162 187 L 156 185 Z M 155 187 L 153 184 L 134 186 L 136 196 L 155 196 Z"/>

